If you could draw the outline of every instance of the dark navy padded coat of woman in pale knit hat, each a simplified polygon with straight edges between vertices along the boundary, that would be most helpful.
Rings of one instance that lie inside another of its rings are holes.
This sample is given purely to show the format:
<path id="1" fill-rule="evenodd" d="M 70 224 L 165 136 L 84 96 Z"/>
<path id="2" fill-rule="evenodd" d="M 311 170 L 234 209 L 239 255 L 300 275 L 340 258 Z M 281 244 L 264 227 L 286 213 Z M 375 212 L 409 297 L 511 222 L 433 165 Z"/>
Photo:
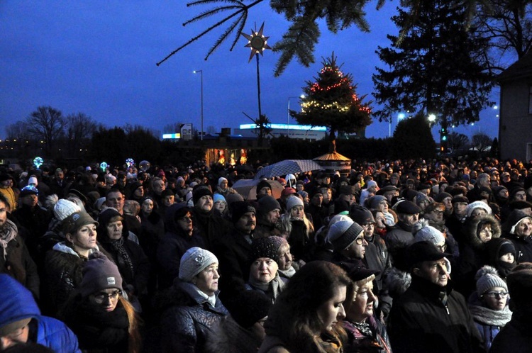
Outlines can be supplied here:
<path id="1" fill-rule="evenodd" d="M 193 284 L 176 280 L 160 320 L 162 352 L 205 352 L 207 335 L 228 315 L 221 301 L 211 304 Z M 216 293 L 218 296 L 218 293 Z"/>

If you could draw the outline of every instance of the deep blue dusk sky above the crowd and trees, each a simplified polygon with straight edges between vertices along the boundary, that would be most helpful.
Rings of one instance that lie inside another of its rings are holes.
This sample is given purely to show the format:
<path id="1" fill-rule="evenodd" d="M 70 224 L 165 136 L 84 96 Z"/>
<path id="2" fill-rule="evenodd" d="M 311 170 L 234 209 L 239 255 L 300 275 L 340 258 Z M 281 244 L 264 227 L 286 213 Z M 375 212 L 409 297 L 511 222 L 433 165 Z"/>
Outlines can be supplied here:
<path id="1" fill-rule="evenodd" d="M 250 123 L 243 114 L 256 117 L 257 72 L 255 59 L 248 63 L 250 50 L 241 37 L 230 52 L 224 43 L 209 60 L 204 57 L 220 28 L 155 65 L 214 20 L 187 27 L 182 23 L 209 9 L 187 8 L 184 0 L 173 1 L 0 1 L 0 118 L 2 125 L 21 121 L 38 106 L 52 106 L 67 116 L 85 113 L 109 128 L 143 125 L 159 133 L 173 123 L 200 124 L 200 75 L 204 82 L 204 130 L 212 126 L 238 128 Z M 273 46 L 288 28 L 287 21 L 274 13 L 270 1 L 255 6 L 248 17 L 245 33 L 260 27 Z M 273 123 L 287 123 L 288 97 L 299 96 L 305 81 L 321 69 L 321 58 L 334 51 L 342 70 L 353 74 L 359 95 L 372 99 L 371 80 L 375 67 L 383 67 L 375 54 L 377 45 L 388 46 L 387 33 L 397 35 L 392 21 L 393 2 L 375 11 L 367 7 L 371 33 L 349 28 L 338 35 L 328 33 L 321 23 L 321 39 L 316 45 L 316 62 L 305 68 L 293 61 L 281 77 L 273 70 L 278 53 L 267 50 L 260 57 L 262 113 Z M 221 17 L 220 17 L 221 18 Z M 492 100 L 499 100 L 498 87 Z M 375 106 L 375 105 L 374 105 Z M 299 109 L 298 99 L 290 108 Z M 498 111 L 482 113 L 480 123 L 457 129 L 473 135 L 497 136 Z M 292 120 L 291 123 L 294 123 Z M 392 123 L 392 133 L 397 118 Z M 436 132 L 436 129 L 434 131 Z M 388 123 L 374 123 L 367 137 L 384 138 Z M 436 138 L 436 133 L 434 134 Z M 0 138 L 5 138 L 0 129 Z"/>

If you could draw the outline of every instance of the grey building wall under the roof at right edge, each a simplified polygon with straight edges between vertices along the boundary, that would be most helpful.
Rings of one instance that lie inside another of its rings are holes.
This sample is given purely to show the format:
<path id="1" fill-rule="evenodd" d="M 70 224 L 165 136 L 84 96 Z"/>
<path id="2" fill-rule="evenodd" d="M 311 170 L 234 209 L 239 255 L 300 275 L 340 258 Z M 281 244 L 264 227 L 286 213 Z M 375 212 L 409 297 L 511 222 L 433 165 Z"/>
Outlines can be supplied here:
<path id="1" fill-rule="evenodd" d="M 527 148 L 532 148 L 532 114 L 528 113 L 531 84 L 532 82 L 527 80 L 501 84 L 499 114 L 501 159 L 532 158 L 532 151 L 529 150 L 527 153 Z"/>

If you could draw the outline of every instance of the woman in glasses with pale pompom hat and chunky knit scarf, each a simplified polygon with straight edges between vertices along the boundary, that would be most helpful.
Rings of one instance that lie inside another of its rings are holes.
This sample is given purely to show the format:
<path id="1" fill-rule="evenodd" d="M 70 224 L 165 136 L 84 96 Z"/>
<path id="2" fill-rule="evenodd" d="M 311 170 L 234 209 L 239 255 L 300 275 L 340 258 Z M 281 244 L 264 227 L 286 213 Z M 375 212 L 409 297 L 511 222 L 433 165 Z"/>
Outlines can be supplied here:
<path id="1" fill-rule="evenodd" d="M 482 267 L 475 278 L 477 291 L 470 296 L 468 306 L 488 352 L 499 330 L 511 319 L 508 286 L 490 266 Z"/>

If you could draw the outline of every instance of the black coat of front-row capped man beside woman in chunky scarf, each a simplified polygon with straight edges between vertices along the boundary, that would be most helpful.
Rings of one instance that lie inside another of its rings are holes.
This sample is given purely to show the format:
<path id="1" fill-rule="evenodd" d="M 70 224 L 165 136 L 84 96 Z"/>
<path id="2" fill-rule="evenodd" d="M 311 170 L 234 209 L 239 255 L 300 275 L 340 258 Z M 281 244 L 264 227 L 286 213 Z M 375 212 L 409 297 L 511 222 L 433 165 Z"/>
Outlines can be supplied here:
<path id="1" fill-rule="evenodd" d="M 441 287 L 419 276 L 394 301 L 388 333 L 395 353 L 483 351 L 464 297 L 450 283 Z"/>

